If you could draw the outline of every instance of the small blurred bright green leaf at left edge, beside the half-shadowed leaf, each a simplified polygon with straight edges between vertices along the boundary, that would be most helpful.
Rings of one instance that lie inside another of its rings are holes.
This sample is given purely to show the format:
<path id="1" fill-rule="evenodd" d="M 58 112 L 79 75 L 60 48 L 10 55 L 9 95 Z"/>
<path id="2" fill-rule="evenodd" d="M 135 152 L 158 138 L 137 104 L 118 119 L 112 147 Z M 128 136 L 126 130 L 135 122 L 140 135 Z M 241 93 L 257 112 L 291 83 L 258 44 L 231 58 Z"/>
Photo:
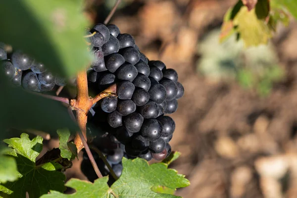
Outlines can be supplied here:
<path id="1" fill-rule="evenodd" d="M 0 183 L 13 182 L 18 178 L 16 161 L 13 157 L 3 155 L 7 151 L 0 148 Z"/>

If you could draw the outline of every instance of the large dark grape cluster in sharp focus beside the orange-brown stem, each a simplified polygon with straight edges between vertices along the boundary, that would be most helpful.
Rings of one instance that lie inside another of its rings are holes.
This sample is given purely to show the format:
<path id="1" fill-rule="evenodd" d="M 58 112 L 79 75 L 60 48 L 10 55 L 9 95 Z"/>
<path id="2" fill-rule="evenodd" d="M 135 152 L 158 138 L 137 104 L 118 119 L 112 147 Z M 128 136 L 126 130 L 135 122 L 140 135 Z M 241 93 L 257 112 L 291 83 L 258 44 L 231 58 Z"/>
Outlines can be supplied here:
<path id="1" fill-rule="evenodd" d="M 96 58 L 88 71 L 90 90 L 98 94 L 117 85 L 117 97 L 94 105 L 88 122 L 114 135 L 130 157 L 164 159 L 175 130 L 174 120 L 164 114 L 175 112 L 184 94 L 177 72 L 148 60 L 134 38 L 114 24 L 96 24 L 88 35 Z"/>

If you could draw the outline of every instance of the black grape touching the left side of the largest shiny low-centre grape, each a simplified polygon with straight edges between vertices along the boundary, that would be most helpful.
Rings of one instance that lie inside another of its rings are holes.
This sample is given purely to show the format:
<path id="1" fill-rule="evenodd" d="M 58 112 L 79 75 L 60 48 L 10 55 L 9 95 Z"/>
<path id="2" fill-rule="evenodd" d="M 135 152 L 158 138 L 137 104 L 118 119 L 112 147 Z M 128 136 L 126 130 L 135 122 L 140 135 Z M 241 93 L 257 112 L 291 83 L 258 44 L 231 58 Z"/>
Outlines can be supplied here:
<path id="1" fill-rule="evenodd" d="M 124 117 L 124 127 L 132 133 L 139 132 L 143 122 L 143 116 L 136 112 L 133 112 Z"/>

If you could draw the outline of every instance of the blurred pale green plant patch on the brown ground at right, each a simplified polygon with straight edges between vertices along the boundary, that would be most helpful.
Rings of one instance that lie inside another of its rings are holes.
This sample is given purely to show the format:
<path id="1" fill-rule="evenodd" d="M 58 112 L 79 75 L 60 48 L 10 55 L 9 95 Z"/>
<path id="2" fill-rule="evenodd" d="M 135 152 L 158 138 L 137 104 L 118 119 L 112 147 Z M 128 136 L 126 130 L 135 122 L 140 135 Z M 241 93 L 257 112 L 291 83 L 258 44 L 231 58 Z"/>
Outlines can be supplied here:
<path id="1" fill-rule="evenodd" d="M 273 83 L 284 75 L 272 45 L 245 48 L 244 42 L 237 42 L 235 35 L 220 44 L 219 34 L 215 30 L 200 43 L 198 71 L 213 81 L 237 80 L 261 96 L 269 94 Z"/>

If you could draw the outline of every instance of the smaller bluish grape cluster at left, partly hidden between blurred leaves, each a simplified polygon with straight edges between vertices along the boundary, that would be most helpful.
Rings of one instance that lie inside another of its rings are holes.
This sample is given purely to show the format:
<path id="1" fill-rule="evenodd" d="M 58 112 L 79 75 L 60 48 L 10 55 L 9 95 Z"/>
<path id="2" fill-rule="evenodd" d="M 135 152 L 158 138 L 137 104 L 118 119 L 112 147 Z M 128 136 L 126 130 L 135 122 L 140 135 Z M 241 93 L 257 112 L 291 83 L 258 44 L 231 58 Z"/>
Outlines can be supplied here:
<path id="1" fill-rule="evenodd" d="M 5 76 L 16 86 L 34 92 L 49 92 L 55 85 L 65 86 L 62 78 L 52 75 L 44 64 L 20 50 L 8 53 L 0 43 L 0 60 Z"/>

